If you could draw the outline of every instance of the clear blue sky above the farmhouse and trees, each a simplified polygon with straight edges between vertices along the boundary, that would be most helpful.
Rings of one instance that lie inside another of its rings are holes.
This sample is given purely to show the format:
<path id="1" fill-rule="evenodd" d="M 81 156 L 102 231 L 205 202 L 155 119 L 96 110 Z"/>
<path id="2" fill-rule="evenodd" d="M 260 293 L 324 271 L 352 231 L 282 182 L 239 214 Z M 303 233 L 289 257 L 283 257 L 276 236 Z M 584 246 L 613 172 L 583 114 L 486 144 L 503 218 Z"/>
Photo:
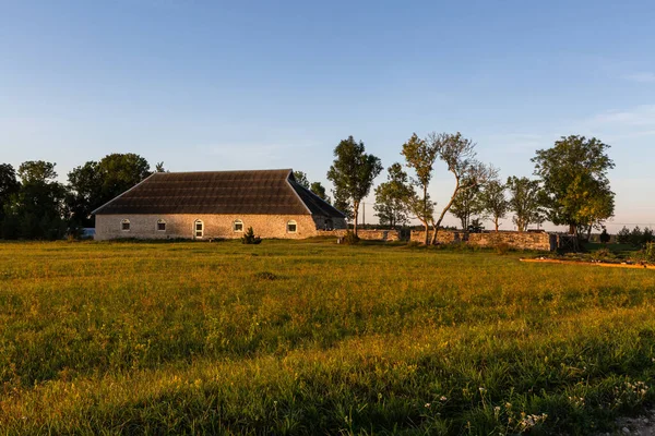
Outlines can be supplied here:
<path id="1" fill-rule="evenodd" d="M 503 178 L 597 136 L 615 222 L 655 225 L 655 3 L 0 0 L 0 162 L 55 161 L 64 181 L 131 152 L 329 185 L 342 138 L 388 167 L 431 131 L 473 138 Z M 452 185 L 439 166 L 440 204 Z"/>

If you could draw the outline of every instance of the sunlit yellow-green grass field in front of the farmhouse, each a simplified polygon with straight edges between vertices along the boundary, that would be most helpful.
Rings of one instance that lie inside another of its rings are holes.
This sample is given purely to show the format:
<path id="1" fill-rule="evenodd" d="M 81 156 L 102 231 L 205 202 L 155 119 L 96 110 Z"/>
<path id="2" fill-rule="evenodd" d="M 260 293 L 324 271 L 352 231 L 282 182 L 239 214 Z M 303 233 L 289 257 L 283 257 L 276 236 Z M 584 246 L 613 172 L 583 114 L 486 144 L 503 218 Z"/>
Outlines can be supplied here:
<path id="1" fill-rule="evenodd" d="M 655 274 L 326 241 L 1 243 L 0 434 L 593 434 Z"/>

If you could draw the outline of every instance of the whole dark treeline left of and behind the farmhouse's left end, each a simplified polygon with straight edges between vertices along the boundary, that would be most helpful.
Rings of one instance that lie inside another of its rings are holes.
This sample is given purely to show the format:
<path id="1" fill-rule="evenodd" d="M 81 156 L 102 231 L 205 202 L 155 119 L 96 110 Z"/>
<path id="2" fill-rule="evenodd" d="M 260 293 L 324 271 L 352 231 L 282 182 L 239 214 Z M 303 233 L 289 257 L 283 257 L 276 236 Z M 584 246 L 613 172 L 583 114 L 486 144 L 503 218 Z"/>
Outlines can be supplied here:
<path id="1" fill-rule="evenodd" d="M 56 164 L 31 160 L 17 171 L 0 164 L 0 237 L 61 239 L 93 227 L 93 210 L 139 183 L 153 171 L 139 155 L 111 154 L 87 161 L 58 182 Z M 163 162 L 155 171 L 164 171 Z"/>

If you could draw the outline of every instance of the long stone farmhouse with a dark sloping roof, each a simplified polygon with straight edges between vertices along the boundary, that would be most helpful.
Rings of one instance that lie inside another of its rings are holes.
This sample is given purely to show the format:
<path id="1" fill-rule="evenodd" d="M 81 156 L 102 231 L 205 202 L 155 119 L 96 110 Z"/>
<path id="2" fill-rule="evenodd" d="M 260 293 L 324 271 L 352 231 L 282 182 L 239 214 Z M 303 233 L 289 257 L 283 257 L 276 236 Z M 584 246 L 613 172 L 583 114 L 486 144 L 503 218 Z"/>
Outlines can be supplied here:
<path id="1" fill-rule="evenodd" d="M 290 169 L 155 172 L 98 207 L 96 240 L 302 239 L 345 229 L 344 214 L 301 186 Z"/>

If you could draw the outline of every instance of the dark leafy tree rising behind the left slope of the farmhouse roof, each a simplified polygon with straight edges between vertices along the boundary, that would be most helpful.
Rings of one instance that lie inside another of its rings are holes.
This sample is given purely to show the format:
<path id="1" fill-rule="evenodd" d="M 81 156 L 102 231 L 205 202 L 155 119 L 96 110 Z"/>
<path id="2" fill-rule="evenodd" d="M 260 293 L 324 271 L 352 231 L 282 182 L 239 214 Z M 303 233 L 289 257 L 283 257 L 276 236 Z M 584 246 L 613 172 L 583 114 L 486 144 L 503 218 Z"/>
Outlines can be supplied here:
<path id="1" fill-rule="evenodd" d="M 164 169 L 159 162 L 159 169 Z M 92 227 L 93 210 L 122 194 L 146 177 L 151 175 L 150 164 L 133 153 L 111 154 L 99 162 L 87 161 L 74 168 L 68 174 L 70 190 L 67 207 L 71 222 L 76 226 Z"/>

